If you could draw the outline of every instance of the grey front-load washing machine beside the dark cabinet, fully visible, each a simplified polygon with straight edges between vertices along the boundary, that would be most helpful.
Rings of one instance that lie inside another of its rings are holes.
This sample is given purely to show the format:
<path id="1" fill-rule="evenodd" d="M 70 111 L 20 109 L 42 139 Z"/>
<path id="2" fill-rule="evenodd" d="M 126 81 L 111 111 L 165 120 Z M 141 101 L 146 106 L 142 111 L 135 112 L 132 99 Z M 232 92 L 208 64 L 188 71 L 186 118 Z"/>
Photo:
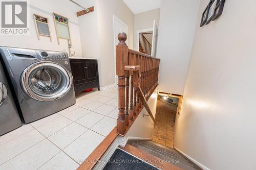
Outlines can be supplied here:
<path id="1" fill-rule="evenodd" d="M 67 53 L 2 46 L 0 54 L 26 124 L 75 104 Z"/>

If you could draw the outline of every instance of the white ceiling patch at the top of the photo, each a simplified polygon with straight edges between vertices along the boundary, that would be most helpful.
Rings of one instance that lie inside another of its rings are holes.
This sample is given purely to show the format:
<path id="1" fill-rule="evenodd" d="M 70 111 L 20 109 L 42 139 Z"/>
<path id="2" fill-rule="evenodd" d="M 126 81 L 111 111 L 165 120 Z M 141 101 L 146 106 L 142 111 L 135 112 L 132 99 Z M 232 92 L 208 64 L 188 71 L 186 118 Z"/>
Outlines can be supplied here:
<path id="1" fill-rule="evenodd" d="M 134 14 L 160 8 L 161 0 L 123 0 Z"/>

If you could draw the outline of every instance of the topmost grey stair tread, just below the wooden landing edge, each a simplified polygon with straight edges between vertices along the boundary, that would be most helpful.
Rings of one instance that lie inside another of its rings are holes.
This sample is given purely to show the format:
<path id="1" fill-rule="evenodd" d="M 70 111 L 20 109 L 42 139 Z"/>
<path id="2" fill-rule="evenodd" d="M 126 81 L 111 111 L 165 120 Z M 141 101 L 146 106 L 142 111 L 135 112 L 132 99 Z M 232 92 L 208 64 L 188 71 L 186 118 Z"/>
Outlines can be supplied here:
<path id="1" fill-rule="evenodd" d="M 170 157 L 164 156 L 164 155 L 162 155 L 162 154 L 160 154 L 160 153 L 157 153 L 157 152 L 152 151 L 152 150 L 150 150 L 150 149 L 148 149 L 148 148 L 145 148 L 145 147 L 143 147 L 142 145 L 140 145 L 140 144 L 138 144 L 138 143 L 133 143 L 132 145 L 133 145 L 134 147 L 136 147 L 136 148 L 142 150 L 142 151 L 147 152 L 148 154 L 151 154 L 151 155 L 153 155 L 153 156 L 156 156 L 156 157 L 158 157 L 158 158 L 160 158 L 160 159 L 162 159 L 162 160 L 168 161 L 169 163 L 172 163 L 172 164 L 174 164 L 174 165 L 177 165 L 177 166 L 179 166 L 179 167 L 181 167 L 181 168 L 186 168 L 186 167 L 192 167 L 192 168 L 193 168 L 193 165 L 190 164 L 190 163 L 188 163 L 188 162 L 183 162 L 183 161 L 181 161 L 180 159 L 175 159 L 175 158 L 170 158 Z M 173 161 L 173 162 L 171 162 L 171 161 Z M 179 163 L 174 163 L 174 161 L 179 161 Z"/>

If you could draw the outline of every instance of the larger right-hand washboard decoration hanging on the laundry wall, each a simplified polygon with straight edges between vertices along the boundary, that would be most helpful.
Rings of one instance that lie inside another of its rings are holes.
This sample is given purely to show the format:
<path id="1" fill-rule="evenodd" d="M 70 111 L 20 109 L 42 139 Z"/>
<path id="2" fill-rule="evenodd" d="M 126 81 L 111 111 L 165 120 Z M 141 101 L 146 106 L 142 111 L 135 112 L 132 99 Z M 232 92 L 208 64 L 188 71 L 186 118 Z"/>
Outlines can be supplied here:
<path id="1" fill-rule="evenodd" d="M 69 18 L 53 13 L 53 20 L 54 20 L 54 26 L 55 26 L 58 44 L 59 44 L 59 39 L 67 39 L 70 41 L 70 44 L 71 44 Z"/>

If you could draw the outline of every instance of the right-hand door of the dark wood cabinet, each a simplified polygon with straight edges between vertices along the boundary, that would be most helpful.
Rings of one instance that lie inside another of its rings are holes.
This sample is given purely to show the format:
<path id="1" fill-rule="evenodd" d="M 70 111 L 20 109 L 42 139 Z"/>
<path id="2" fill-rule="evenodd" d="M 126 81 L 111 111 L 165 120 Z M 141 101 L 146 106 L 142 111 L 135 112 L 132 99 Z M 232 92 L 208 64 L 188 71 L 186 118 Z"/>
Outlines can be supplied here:
<path id="1" fill-rule="evenodd" d="M 86 79 L 87 82 L 98 80 L 97 74 L 97 60 L 86 60 L 84 65 L 86 66 Z"/>

